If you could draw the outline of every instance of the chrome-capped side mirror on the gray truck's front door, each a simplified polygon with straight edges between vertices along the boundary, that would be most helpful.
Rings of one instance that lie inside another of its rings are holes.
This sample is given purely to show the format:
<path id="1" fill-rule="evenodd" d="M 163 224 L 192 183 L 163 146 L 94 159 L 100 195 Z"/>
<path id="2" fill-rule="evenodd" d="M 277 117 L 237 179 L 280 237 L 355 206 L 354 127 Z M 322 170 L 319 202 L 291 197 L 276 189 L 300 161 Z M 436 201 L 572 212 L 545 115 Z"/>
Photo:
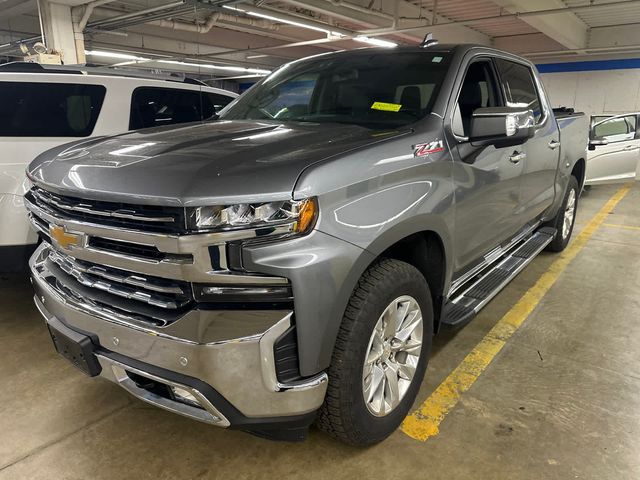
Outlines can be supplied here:
<path id="1" fill-rule="evenodd" d="M 531 110 L 517 107 L 478 108 L 471 114 L 469 140 L 474 143 L 522 143 L 535 133 Z"/>

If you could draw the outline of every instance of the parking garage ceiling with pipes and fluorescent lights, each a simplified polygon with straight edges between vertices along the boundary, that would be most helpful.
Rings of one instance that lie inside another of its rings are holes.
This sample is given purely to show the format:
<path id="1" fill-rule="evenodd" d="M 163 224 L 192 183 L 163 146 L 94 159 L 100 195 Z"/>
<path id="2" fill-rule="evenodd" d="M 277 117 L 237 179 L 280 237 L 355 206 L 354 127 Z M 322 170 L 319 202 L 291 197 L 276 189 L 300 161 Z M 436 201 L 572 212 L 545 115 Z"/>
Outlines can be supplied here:
<path id="1" fill-rule="evenodd" d="M 640 1 L 632 0 L 59 3 L 74 7 L 78 23 L 89 8 L 84 37 L 92 63 L 215 78 L 263 74 L 291 59 L 333 50 L 416 44 L 427 32 L 442 42 L 494 45 L 543 62 L 640 53 Z M 39 33 L 35 0 L 0 0 L 0 55 L 18 55 L 17 42 L 33 42 Z"/>

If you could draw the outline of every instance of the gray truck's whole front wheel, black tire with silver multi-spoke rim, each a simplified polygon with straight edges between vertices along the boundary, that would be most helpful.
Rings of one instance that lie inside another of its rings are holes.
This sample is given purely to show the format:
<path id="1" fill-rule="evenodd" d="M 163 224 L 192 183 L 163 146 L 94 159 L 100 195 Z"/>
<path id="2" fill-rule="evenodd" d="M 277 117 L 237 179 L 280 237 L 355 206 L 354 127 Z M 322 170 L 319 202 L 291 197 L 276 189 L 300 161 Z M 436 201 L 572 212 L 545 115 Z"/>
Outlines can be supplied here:
<path id="1" fill-rule="evenodd" d="M 398 260 L 371 266 L 338 333 L 320 429 L 358 446 L 393 433 L 418 394 L 432 335 L 433 306 L 424 276 Z"/>

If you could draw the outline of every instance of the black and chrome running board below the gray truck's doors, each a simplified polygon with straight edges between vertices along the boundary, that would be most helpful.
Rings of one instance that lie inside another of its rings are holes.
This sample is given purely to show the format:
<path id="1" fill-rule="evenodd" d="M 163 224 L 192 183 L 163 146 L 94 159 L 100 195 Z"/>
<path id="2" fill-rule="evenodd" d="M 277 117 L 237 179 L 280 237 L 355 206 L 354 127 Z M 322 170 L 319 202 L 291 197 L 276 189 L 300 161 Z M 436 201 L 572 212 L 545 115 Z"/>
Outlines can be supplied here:
<path id="1" fill-rule="evenodd" d="M 460 328 L 473 320 L 493 297 L 551 243 L 555 235 L 555 228 L 541 228 L 516 250 L 498 260 L 493 268 L 469 280 L 462 293 L 456 292 L 445 304 L 441 326 L 447 329 Z"/>

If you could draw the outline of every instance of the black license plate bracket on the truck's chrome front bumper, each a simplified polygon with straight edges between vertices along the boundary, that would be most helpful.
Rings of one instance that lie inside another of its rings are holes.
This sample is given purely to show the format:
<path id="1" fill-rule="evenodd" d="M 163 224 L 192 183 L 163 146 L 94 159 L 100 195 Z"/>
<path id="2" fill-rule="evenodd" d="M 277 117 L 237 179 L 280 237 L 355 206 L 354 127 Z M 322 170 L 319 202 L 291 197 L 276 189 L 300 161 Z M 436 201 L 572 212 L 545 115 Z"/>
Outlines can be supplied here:
<path id="1" fill-rule="evenodd" d="M 100 375 L 102 367 L 94 354 L 95 345 L 89 335 L 69 328 L 55 317 L 47 320 L 47 327 L 60 355 L 86 375 Z"/>

